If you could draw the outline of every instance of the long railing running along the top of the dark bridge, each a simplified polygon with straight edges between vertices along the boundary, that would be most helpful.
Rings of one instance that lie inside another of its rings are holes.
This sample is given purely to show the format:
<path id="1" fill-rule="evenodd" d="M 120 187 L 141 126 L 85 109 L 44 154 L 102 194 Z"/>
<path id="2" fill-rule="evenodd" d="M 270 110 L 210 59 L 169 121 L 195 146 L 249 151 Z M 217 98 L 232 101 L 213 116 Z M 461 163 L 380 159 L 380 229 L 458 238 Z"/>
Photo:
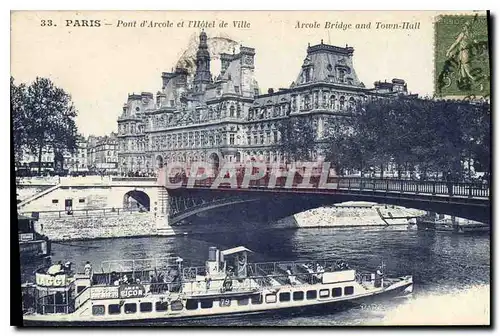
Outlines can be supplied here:
<path id="1" fill-rule="evenodd" d="M 275 182 L 274 182 L 275 181 Z M 215 177 L 209 177 L 204 180 L 194 181 L 194 188 L 209 188 L 214 182 L 217 182 Z M 382 178 L 361 178 L 361 177 L 328 177 L 326 183 L 328 188 L 321 185 L 319 176 L 312 176 L 308 181 L 305 181 L 302 176 L 297 175 L 291 185 L 287 185 L 286 177 L 277 177 L 271 179 L 269 175 L 258 180 L 251 180 L 247 185 L 243 184 L 243 177 L 236 177 L 236 185 L 238 189 L 307 189 L 310 191 L 324 191 L 326 189 L 347 189 L 357 191 L 374 191 L 374 192 L 400 192 L 411 194 L 428 194 L 428 195 L 446 195 L 446 196 L 463 196 L 463 197 L 489 197 L 489 185 L 484 183 L 466 183 L 466 182 L 447 182 L 447 181 L 425 181 L 425 180 L 400 180 L 400 179 L 382 179 Z M 171 177 L 172 185 L 181 183 L 182 187 L 188 187 L 188 177 Z M 332 187 L 333 186 L 333 187 Z M 228 182 L 221 183 L 217 189 L 231 188 Z"/>

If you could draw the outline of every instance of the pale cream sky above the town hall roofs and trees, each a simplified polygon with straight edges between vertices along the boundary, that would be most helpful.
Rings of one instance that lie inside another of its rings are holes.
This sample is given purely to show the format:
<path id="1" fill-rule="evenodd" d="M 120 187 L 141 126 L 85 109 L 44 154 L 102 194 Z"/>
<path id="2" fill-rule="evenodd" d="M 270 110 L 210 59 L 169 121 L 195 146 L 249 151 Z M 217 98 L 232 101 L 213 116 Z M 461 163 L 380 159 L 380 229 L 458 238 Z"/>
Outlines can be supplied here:
<path id="1" fill-rule="evenodd" d="M 11 75 L 16 83 L 31 83 L 37 76 L 50 78 L 71 94 L 78 110 L 79 131 L 86 136 L 105 135 L 116 131 L 116 119 L 128 94 L 161 90 L 161 72 L 175 66 L 190 40 L 201 31 L 200 27 L 188 27 L 189 21 L 208 21 L 216 24 L 205 29 L 209 37 L 227 36 L 256 49 L 255 77 L 261 92 L 289 87 L 299 73 L 308 43 L 318 44 L 323 39 L 324 43 L 354 48 L 354 67 L 366 87 L 373 87 L 377 80 L 402 78 L 409 91 L 425 96 L 433 93 L 433 22 L 439 14 L 14 11 Z M 99 27 L 96 20 L 100 20 Z M 234 28 L 234 21 L 246 24 Z M 173 26 L 141 27 L 142 22 Z M 183 27 L 178 26 L 181 22 Z M 227 27 L 220 27 L 222 22 Z M 333 27 L 326 29 L 327 22 Z M 419 25 L 418 29 L 382 29 L 379 24 L 377 29 L 377 22 Z M 356 24 L 368 23 L 369 28 L 356 29 Z"/>

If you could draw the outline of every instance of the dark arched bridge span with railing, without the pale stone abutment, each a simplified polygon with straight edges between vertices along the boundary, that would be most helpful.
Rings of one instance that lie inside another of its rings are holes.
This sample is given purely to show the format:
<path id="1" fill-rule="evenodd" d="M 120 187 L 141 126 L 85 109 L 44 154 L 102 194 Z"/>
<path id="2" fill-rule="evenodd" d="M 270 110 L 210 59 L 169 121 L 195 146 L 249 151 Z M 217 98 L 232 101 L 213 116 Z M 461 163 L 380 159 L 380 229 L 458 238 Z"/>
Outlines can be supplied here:
<path id="1" fill-rule="evenodd" d="M 301 181 L 289 186 L 278 182 L 272 188 L 265 179 L 245 187 L 238 181 L 236 185 L 218 184 L 216 188 L 213 178 L 196 181 L 191 187 L 187 180 L 171 182 L 176 186 L 168 189 L 171 225 L 213 208 L 250 202 L 262 211 L 288 216 L 346 201 L 399 205 L 490 222 L 490 192 L 484 184 L 353 177 L 329 178 L 327 188 L 319 188 L 319 181 L 309 187 L 301 187 Z"/>

